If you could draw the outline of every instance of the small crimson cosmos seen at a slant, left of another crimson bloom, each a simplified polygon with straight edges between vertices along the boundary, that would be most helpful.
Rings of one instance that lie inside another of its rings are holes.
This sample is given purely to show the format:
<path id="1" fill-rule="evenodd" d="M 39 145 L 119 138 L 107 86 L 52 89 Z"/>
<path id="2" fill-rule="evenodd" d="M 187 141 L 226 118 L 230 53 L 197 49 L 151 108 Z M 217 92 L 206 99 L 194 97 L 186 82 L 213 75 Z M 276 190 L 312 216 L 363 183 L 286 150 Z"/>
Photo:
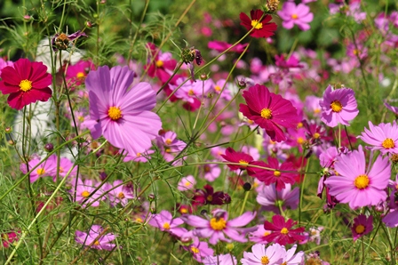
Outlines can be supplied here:
<path id="1" fill-rule="evenodd" d="M 226 154 L 221 155 L 224 159 L 226 159 L 228 162 L 236 163 L 239 165 L 229 165 L 229 169 L 231 170 L 247 170 L 247 173 L 251 176 L 254 175 L 255 173 L 261 171 L 259 167 L 252 167 L 250 165 L 259 165 L 259 166 L 266 166 L 264 162 L 261 161 L 255 161 L 251 155 L 248 155 L 243 152 L 236 152 L 232 148 L 227 148 Z"/>

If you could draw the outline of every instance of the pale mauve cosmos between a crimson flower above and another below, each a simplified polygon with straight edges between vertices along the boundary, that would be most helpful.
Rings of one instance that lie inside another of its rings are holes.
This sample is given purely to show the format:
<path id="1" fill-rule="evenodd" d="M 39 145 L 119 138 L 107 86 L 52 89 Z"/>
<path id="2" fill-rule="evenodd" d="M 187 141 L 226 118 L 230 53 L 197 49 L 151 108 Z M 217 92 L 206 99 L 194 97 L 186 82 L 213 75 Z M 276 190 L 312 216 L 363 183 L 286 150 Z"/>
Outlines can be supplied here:
<path id="1" fill-rule="evenodd" d="M 276 190 L 275 183 L 267 186 L 264 185 L 263 188 L 259 190 L 256 200 L 259 205 L 262 205 L 262 210 L 281 214 L 278 206 L 279 204 L 282 205 L 283 210 L 294 210 L 298 207 L 299 188 L 296 187 L 291 190 L 291 184 L 286 184 L 284 189 Z"/>

